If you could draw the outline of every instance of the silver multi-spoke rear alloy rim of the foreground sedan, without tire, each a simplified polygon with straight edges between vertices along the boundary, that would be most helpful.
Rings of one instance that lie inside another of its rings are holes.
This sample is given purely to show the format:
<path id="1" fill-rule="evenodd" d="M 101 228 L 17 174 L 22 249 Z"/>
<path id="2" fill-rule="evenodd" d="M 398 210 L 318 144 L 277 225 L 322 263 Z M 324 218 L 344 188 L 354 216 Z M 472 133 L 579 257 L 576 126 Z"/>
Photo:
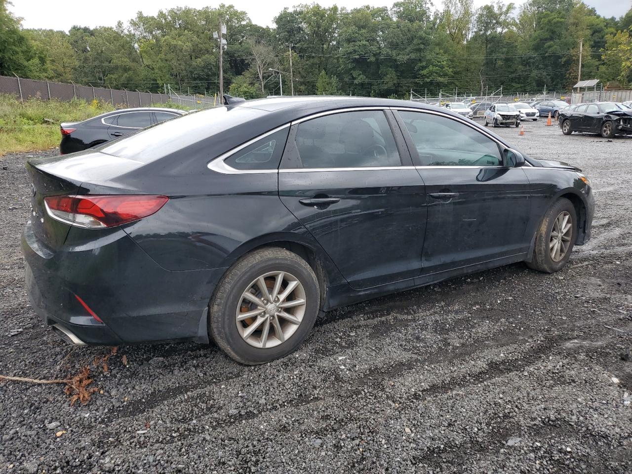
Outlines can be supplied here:
<path id="1" fill-rule="evenodd" d="M 251 346 L 278 346 L 296 332 L 306 305 L 305 288 L 295 276 L 268 272 L 241 294 L 235 315 L 237 329 Z"/>

